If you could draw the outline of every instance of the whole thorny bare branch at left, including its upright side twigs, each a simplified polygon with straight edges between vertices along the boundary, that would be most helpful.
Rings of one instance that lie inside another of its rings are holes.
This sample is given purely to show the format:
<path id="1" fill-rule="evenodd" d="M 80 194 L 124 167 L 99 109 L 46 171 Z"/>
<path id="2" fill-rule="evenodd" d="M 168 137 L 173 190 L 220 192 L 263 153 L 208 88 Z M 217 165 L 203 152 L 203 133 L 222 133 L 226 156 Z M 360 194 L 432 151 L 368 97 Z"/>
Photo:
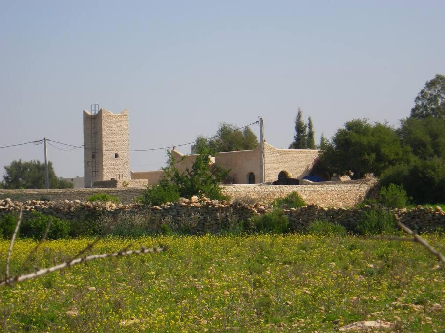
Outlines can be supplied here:
<path id="1" fill-rule="evenodd" d="M 38 271 L 36 271 L 34 273 L 21 274 L 20 271 L 25 267 L 26 263 L 30 260 L 31 256 L 36 253 L 36 251 L 39 248 L 39 246 L 46 239 L 46 235 L 48 234 L 48 231 L 49 231 L 49 228 L 50 228 L 50 223 L 48 223 L 47 226 L 46 226 L 46 230 L 45 230 L 45 232 L 44 232 L 44 234 L 42 236 L 42 239 L 34 247 L 34 249 L 30 252 L 28 257 L 26 258 L 25 262 L 23 263 L 23 265 L 21 266 L 21 268 L 19 270 L 19 274 L 17 274 L 16 276 L 13 276 L 13 277 L 9 277 L 9 261 L 10 261 L 10 258 L 11 258 L 12 247 L 14 245 L 14 241 L 15 241 L 16 236 L 18 234 L 22 217 L 23 217 L 23 209 L 21 209 L 21 211 L 20 211 L 19 219 L 18 219 L 17 224 L 16 224 L 16 229 L 14 230 L 14 234 L 12 235 L 12 238 L 11 238 L 11 244 L 9 245 L 8 256 L 7 256 L 7 259 L 6 259 L 6 276 L 5 276 L 4 280 L 0 281 L 0 287 L 4 286 L 4 285 L 11 285 L 11 284 L 14 284 L 16 282 L 23 282 L 23 281 L 31 280 L 33 278 L 42 276 L 44 274 L 55 272 L 55 271 L 60 271 L 60 270 L 63 270 L 65 268 L 67 268 L 67 267 L 78 265 L 78 264 L 81 264 L 81 263 L 84 263 L 84 262 L 88 262 L 88 261 L 91 261 L 91 260 L 110 258 L 110 257 L 127 256 L 127 255 L 141 255 L 141 254 L 147 254 L 147 253 L 158 253 L 158 252 L 167 250 L 166 246 L 164 246 L 164 247 L 153 247 L 153 248 L 150 248 L 150 249 L 148 249 L 148 248 L 146 248 L 144 246 L 141 246 L 141 248 L 138 249 L 138 250 L 128 250 L 132 246 L 132 244 L 128 244 L 125 248 L 123 248 L 122 250 L 117 251 L 117 252 L 103 253 L 103 254 L 99 254 L 99 255 L 87 255 L 87 256 L 82 256 L 81 257 L 81 255 L 83 255 L 85 252 L 91 250 L 93 248 L 93 246 L 96 245 L 99 240 L 103 239 L 106 235 L 108 235 L 108 233 L 111 230 L 111 226 L 108 226 L 106 231 L 101 236 L 99 236 L 97 239 L 95 239 L 92 243 L 88 243 L 86 245 L 86 247 L 83 250 L 81 250 L 77 255 L 75 255 L 73 258 L 71 258 L 71 259 L 69 259 L 69 260 L 67 260 L 67 261 L 65 261 L 65 262 L 63 262 L 61 264 L 52 266 L 52 267 L 42 268 L 42 269 L 40 269 L 40 270 L 38 270 Z"/>

